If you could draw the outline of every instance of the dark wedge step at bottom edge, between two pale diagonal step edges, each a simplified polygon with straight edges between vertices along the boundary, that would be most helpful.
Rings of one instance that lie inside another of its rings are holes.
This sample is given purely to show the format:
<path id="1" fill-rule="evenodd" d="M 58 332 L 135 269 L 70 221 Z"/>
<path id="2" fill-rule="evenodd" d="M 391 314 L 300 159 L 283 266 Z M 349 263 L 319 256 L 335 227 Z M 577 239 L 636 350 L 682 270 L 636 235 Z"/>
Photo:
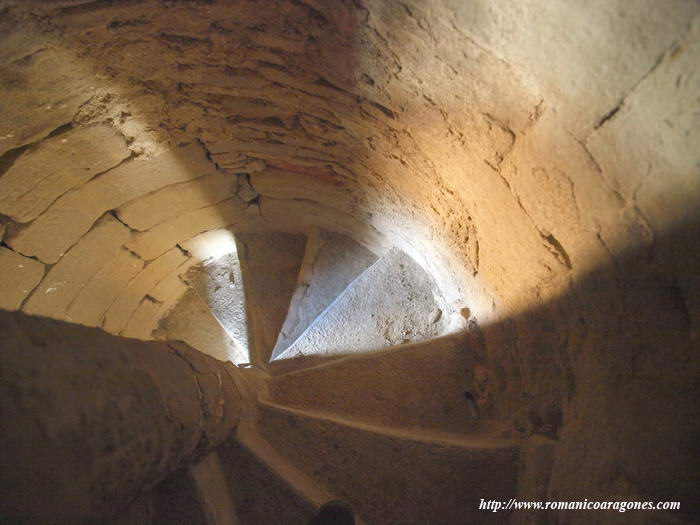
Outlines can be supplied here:
<path id="1" fill-rule="evenodd" d="M 334 499 L 252 433 L 217 449 L 241 525 L 307 523 Z"/>

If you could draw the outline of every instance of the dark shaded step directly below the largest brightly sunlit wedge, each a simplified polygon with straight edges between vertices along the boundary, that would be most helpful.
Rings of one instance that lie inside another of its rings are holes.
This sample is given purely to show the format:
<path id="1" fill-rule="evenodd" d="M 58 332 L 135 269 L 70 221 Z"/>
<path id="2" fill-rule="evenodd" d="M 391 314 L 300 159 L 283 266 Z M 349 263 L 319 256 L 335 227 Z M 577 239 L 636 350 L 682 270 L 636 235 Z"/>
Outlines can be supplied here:
<path id="1" fill-rule="evenodd" d="M 268 395 L 376 425 L 476 432 L 474 368 L 466 334 L 453 334 L 273 376 Z"/>

